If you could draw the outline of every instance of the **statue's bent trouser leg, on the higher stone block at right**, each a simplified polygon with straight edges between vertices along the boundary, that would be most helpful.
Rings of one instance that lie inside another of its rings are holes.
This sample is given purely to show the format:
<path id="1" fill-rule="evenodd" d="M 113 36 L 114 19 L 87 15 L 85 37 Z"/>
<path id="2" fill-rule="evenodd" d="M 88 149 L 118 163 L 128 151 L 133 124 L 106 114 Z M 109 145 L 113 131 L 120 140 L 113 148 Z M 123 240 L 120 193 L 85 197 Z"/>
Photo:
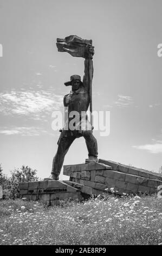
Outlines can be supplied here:
<path id="1" fill-rule="evenodd" d="M 96 138 L 93 136 L 92 131 L 83 131 L 82 134 L 86 140 L 88 156 L 98 157 L 98 143 L 96 141 Z"/>

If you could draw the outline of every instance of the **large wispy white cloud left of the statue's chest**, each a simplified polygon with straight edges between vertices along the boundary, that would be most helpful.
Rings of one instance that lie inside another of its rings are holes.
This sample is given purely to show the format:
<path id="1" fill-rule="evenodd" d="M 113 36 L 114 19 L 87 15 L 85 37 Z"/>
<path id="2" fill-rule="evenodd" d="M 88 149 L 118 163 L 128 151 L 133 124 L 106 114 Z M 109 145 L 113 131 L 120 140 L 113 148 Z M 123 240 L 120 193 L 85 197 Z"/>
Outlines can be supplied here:
<path id="1" fill-rule="evenodd" d="M 0 93 L 0 112 L 5 115 L 25 115 L 37 120 L 44 114 L 59 110 L 62 102 L 63 96 L 55 94 L 53 90 L 11 90 Z"/>

